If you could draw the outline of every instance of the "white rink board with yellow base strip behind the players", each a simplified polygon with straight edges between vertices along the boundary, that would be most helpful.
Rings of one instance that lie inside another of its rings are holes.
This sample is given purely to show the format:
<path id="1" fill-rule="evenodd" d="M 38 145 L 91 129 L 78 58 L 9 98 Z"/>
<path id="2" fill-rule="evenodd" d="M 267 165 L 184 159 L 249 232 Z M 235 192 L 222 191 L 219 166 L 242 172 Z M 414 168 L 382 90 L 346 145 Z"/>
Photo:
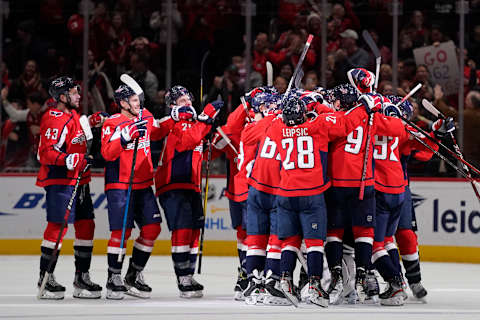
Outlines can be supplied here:
<path id="1" fill-rule="evenodd" d="M 35 186 L 35 177 L 31 175 L 2 175 L 0 181 L 0 254 L 38 254 L 46 225 L 44 190 Z M 93 177 L 90 184 L 96 215 L 96 254 L 105 254 L 109 237 L 103 184 L 101 176 Z M 236 254 L 235 231 L 224 188 L 225 178 L 210 179 L 205 255 Z M 422 259 L 480 263 L 480 209 L 470 184 L 458 179 L 417 179 L 411 182 L 411 190 Z M 72 237 L 70 230 L 63 253 L 73 253 Z M 162 223 L 154 254 L 170 252 L 169 237 L 168 228 Z M 128 248 L 131 250 L 131 243 Z"/>

